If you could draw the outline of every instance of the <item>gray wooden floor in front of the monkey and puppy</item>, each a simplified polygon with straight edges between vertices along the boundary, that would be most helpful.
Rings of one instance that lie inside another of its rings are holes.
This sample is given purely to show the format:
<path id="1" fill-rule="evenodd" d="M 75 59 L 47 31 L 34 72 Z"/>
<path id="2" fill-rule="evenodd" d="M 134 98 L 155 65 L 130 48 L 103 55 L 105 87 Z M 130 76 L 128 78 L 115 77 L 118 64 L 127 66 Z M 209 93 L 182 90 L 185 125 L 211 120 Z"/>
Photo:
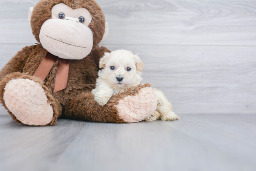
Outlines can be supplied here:
<path id="1" fill-rule="evenodd" d="M 0 171 L 256 170 L 256 115 L 180 116 L 29 127 L 0 115 Z"/>

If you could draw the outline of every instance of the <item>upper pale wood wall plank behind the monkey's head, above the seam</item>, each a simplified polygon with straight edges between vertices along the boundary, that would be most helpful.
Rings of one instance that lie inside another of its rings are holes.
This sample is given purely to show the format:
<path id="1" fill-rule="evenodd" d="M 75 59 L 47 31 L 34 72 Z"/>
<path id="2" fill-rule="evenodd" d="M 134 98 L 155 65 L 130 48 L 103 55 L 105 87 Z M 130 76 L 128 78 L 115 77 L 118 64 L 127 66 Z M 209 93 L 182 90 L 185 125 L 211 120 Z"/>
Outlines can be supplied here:
<path id="1" fill-rule="evenodd" d="M 35 43 L 27 20 L 38 0 L 0 0 L 0 43 Z M 256 46 L 253 0 L 96 0 L 112 45 Z M 19 17 L 17 17 L 19 16 Z"/>

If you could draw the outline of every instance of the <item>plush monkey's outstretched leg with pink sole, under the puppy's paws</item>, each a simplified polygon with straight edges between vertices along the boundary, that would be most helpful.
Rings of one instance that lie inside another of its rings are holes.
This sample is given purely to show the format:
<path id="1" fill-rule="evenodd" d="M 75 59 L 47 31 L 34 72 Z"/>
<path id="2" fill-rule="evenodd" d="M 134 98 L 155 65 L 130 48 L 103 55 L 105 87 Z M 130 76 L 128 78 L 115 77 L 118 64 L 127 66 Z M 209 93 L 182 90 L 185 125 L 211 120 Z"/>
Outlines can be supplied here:
<path id="1" fill-rule="evenodd" d="M 94 122 L 132 123 L 150 117 L 156 105 L 156 93 L 145 84 L 112 96 L 104 106 L 94 101 L 91 92 L 81 93 L 67 104 L 65 115 Z"/>

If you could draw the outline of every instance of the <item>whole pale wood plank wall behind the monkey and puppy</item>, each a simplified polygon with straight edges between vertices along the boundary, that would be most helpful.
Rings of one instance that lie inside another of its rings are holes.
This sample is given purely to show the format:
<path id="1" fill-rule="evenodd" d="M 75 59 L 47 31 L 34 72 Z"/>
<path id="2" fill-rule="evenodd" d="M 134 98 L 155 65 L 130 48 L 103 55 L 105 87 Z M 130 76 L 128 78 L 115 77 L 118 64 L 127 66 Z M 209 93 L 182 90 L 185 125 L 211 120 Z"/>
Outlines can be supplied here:
<path id="1" fill-rule="evenodd" d="M 256 113 L 256 1 L 96 1 L 109 23 L 101 45 L 138 54 L 144 83 L 162 90 L 174 112 Z M 27 13 L 37 2 L 0 0 L 0 68 L 36 43 Z"/>

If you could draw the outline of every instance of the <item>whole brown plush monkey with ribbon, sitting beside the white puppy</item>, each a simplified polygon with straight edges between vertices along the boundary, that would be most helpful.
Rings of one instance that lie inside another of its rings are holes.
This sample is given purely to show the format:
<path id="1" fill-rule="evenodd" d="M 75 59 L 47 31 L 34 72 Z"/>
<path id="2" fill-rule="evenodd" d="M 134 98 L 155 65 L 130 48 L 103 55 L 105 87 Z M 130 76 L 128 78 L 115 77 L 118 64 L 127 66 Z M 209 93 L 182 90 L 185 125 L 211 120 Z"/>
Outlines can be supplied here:
<path id="1" fill-rule="evenodd" d="M 24 125 L 54 125 L 57 118 L 138 122 L 155 112 L 150 85 L 131 87 L 106 105 L 94 101 L 108 23 L 94 0 L 40 0 L 29 9 L 37 45 L 26 46 L 0 71 L 0 100 Z"/>

